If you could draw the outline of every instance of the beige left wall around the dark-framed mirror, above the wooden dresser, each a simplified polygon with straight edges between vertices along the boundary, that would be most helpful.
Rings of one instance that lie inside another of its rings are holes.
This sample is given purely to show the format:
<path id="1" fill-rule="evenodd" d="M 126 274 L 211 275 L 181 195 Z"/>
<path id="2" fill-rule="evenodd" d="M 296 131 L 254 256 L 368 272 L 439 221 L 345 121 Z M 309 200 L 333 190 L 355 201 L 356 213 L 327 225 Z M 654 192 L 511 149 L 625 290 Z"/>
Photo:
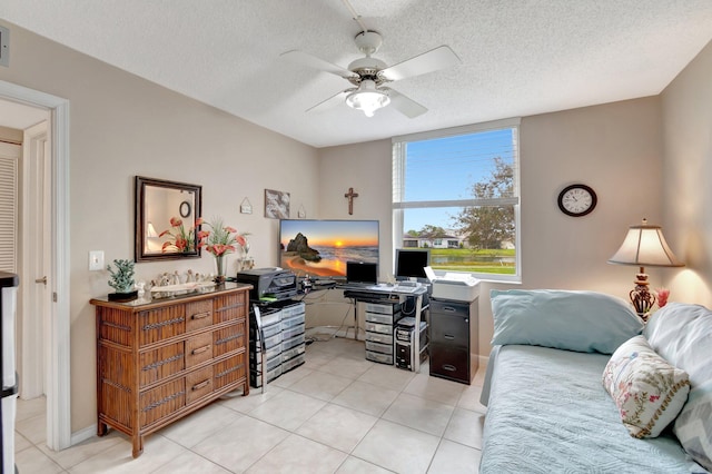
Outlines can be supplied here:
<path id="1" fill-rule="evenodd" d="M 11 24 L 10 68 L 0 80 L 70 101 L 70 271 L 72 432 L 96 424 L 95 319 L 89 299 L 111 290 L 88 270 L 89 250 L 134 257 L 134 177 L 202 186 L 205 217 L 253 234 L 258 266 L 276 265 L 277 220 L 263 217 L 264 189 L 317 208 L 317 151 L 190 100 Z M 236 91 L 236 93 L 239 93 Z M 254 214 L 239 214 L 245 197 Z M 293 206 L 293 215 L 298 207 Z M 137 278 L 188 268 L 214 271 L 209 254 L 138 264 Z"/>

